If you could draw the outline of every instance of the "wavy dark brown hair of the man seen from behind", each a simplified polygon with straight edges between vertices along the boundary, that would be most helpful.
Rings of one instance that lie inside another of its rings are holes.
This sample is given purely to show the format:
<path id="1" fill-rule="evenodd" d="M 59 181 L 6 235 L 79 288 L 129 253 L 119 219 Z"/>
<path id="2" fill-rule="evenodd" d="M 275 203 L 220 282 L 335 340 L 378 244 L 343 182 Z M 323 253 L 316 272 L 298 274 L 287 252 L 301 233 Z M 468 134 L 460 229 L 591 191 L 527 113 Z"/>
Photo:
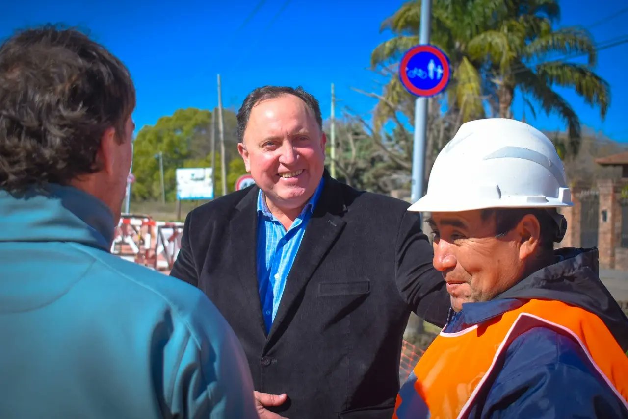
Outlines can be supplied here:
<path id="1" fill-rule="evenodd" d="M 122 142 L 134 108 L 129 71 L 104 46 L 57 25 L 18 31 L 0 46 L 0 188 L 99 171 L 102 134 Z"/>

